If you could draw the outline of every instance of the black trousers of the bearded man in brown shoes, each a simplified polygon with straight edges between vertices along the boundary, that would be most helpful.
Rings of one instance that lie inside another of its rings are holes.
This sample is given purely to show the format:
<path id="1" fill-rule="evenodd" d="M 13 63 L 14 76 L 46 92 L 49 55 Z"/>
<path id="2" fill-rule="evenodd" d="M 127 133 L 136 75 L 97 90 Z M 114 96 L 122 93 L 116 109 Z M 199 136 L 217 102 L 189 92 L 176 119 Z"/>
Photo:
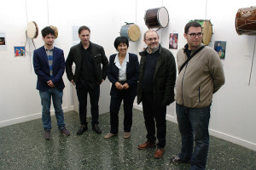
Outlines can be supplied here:
<path id="1" fill-rule="evenodd" d="M 154 95 L 143 93 L 143 115 L 147 129 L 147 139 L 155 142 L 155 127 L 157 129 L 158 148 L 166 146 L 166 105 L 157 105 Z"/>

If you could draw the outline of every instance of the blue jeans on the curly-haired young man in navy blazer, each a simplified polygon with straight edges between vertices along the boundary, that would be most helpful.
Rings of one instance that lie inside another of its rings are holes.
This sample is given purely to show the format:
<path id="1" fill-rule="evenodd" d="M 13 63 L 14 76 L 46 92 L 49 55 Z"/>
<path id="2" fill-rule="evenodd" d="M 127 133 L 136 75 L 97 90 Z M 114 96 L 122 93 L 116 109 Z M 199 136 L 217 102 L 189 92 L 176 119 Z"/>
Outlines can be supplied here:
<path id="1" fill-rule="evenodd" d="M 53 105 L 55 107 L 55 116 L 57 119 L 58 128 L 61 130 L 65 127 L 63 111 L 61 108 L 62 105 L 62 96 L 63 91 L 60 91 L 58 88 L 49 88 L 46 91 L 39 91 L 41 97 L 42 109 L 42 122 L 44 130 L 51 129 L 51 119 L 50 119 L 50 99 L 52 97 Z"/>

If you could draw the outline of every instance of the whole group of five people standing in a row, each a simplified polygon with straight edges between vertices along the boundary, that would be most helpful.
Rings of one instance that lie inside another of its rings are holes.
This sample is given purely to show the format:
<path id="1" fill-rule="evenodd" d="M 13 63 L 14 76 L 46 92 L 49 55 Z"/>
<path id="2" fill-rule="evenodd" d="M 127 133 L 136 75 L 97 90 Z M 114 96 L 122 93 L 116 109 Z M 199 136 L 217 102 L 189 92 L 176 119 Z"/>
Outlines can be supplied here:
<path id="1" fill-rule="evenodd" d="M 189 22 L 183 36 L 187 44 L 175 58 L 159 43 L 157 31 L 148 30 L 143 41 L 147 48 L 137 54 L 128 53 L 129 41 L 117 37 L 113 43 L 117 54 L 108 58 L 102 46 L 90 42 L 90 29 L 79 28 L 80 43 L 70 48 L 67 60 L 60 48 L 53 46 L 55 32 L 49 26 L 42 30 L 44 46 L 34 51 L 33 65 L 38 75 L 37 89 L 43 106 L 42 122 L 45 139 L 50 139 L 50 101 L 53 100 L 55 116 L 60 133 L 70 135 L 65 127 L 61 109 L 65 71 L 67 78 L 76 87 L 79 99 L 80 127 L 77 135 L 88 129 L 86 122 L 87 94 L 90 95 L 91 126 L 96 133 L 99 127 L 100 85 L 108 77 L 110 90 L 110 131 L 105 139 L 119 133 L 119 108 L 124 104 L 124 138 L 131 136 L 132 107 L 143 104 L 143 116 L 147 129 L 146 142 L 139 150 L 156 147 L 155 158 L 164 155 L 166 146 L 166 106 L 176 100 L 177 122 L 182 137 L 181 153 L 171 159 L 172 163 L 191 162 L 190 169 L 205 169 L 209 147 L 208 125 L 212 94 L 224 84 L 224 71 L 218 54 L 201 43 L 201 25 Z M 192 59 L 193 58 L 193 59 Z M 72 65 L 76 65 L 73 74 Z M 178 77 L 177 77 L 178 71 Z M 177 79 L 177 81 L 176 81 Z M 176 87 L 176 93 L 174 88 Z M 156 143 L 156 139 L 158 143 Z M 195 141 L 195 149 L 193 145 Z"/>

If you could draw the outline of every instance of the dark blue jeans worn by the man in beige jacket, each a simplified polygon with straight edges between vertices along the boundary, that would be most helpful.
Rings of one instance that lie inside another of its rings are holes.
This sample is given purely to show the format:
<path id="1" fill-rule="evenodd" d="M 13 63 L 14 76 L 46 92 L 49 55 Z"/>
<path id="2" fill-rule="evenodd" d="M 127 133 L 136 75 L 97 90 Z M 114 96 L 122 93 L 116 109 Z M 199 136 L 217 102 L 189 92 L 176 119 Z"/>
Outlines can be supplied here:
<path id="1" fill-rule="evenodd" d="M 205 108 L 188 108 L 176 104 L 177 122 L 182 138 L 179 157 L 191 161 L 190 170 L 205 169 L 209 149 L 209 119 L 211 105 Z M 195 149 L 193 144 L 195 140 Z"/>

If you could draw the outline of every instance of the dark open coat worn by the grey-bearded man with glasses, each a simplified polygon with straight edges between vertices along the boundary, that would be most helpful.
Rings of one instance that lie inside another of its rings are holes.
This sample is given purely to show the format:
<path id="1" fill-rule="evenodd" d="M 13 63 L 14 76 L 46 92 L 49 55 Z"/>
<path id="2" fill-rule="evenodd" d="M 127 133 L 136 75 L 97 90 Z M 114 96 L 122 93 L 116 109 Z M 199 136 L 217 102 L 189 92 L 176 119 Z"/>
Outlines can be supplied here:
<path id="1" fill-rule="evenodd" d="M 176 63 L 171 51 L 162 48 L 159 44 L 160 56 L 156 61 L 153 77 L 154 101 L 158 105 L 170 105 L 174 101 L 174 87 L 176 82 Z M 143 70 L 148 52 L 144 50 L 141 55 L 140 76 L 137 87 L 137 104 L 142 101 L 143 95 Z"/>

